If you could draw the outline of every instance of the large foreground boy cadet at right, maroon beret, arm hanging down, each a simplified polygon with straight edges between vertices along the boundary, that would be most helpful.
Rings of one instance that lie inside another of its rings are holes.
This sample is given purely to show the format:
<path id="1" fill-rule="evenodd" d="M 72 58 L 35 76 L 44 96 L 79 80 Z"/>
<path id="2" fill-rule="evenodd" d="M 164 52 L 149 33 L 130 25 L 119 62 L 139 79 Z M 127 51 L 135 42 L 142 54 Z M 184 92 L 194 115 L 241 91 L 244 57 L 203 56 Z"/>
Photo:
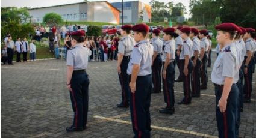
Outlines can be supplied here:
<path id="1" fill-rule="evenodd" d="M 214 62 L 211 80 L 215 86 L 216 120 L 219 137 L 237 137 L 237 109 L 239 90 L 239 63 L 233 40 L 237 26 L 233 23 L 217 25 L 217 42 L 220 53 Z"/>

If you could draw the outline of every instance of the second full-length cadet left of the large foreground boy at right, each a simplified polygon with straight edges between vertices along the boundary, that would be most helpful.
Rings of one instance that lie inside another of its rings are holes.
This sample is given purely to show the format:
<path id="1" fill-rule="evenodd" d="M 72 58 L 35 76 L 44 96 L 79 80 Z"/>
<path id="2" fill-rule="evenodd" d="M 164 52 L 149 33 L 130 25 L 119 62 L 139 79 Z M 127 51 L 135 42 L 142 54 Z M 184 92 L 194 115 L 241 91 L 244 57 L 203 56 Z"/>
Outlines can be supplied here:
<path id="1" fill-rule="evenodd" d="M 192 85 L 192 97 L 200 97 L 200 68 L 202 65 L 202 61 L 199 58 L 200 52 L 200 40 L 198 39 L 197 35 L 199 34 L 198 29 L 191 28 L 190 37 L 193 41 L 193 51 L 194 54 L 192 56 L 193 61 L 193 71 L 191 76 L 191 85 Z"/>

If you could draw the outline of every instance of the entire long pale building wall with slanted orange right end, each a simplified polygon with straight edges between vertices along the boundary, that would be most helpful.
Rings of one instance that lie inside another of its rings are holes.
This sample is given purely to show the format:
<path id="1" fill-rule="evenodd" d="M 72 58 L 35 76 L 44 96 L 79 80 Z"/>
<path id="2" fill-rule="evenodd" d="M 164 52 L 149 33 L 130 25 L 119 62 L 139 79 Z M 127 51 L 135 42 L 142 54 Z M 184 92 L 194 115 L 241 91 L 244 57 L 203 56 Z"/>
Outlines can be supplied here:
<path id="1" fill-rule="evenodd" d="M 43 22 L 47 13 L 57 13 L 64 21 L 109 22 L 118 24 L 120 12 L 108 2 L 87 2 L 28 10 L 33 22 Z"/>

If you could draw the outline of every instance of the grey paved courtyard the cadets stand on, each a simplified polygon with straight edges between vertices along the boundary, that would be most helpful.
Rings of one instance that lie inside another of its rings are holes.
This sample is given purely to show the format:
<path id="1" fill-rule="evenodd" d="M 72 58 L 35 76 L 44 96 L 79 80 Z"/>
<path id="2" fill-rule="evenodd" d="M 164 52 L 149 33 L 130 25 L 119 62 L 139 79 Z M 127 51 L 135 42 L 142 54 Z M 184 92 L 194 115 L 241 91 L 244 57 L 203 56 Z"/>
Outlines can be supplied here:
<path id="1" fill-rule="evenodd" d="M 213 53 L 213 62 L 216 54 Z M 213 66 L 213 65 L 212 65 Z M 174 115 L 158 113 L 165 106 L 163 92 L 151 97 L 151 137 L 217 137 L 214 87 L 208 68 L 208 89 L 189 106 L 175 104 Z M 1 66 L 2 137 L 133 137 L 130 110 L 118 109 L 120 85 L 116 61 L 90 62 L 89 121 L 87 130 L 67 133 L 73 112 L 66 89 L 64 60 Z M 240 137 L 256 137 L 256 75 L 252 102 L 245 103 Z M 176 102 L 183 83 L 175 82 Z"/>

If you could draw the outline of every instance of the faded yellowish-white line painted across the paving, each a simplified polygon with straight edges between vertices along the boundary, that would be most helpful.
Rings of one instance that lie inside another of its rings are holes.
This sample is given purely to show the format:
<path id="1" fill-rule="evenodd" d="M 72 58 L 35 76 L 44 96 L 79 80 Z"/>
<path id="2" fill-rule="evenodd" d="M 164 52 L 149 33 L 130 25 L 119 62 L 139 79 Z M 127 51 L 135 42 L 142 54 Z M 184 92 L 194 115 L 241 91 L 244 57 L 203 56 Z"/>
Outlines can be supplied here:
<path id="1" fill-rule="evenodd" d="M 124 121 L 124 120 L 115 119 L 115 118 L 106 118 L 106 117 L 98 116 L 98 115 L 93 116 L 93 118 L 104 119 L 104 120 L 113 121 L 113 122 L 120 122 L 120 123 L 123 123 L 123 124 L 131 124 L 130 121 Z M 192 134 L 192 135 L 195 135 L 195 136 L 217 138 L 217 136 L 211 136 L 209 134 L 198 133 L 198 132 L 195 132 L 195 131 L 179 130 L 179 129 L 170 128 L 170 127 L 159 127 L 159 126 L 156 126 L 156 125 L 151 125 L 151 128 L 155 128 L 157 130 L 165 130 L 165 131 L 173 131 L 173 132 L 178 132 L 178 133 Z"/>

